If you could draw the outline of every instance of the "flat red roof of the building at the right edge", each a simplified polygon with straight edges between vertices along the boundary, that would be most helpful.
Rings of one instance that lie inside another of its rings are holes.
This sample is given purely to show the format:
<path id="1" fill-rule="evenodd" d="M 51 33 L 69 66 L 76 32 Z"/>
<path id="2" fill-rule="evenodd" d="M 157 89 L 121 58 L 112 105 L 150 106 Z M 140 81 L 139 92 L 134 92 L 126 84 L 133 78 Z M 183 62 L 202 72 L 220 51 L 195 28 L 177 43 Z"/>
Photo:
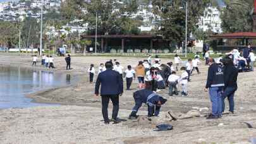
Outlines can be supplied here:
<path id="1" fill-rule="evenodd" d="M 210 37 L 219 39 L 256 39 L 256 32 L 222 33 L 218 35 L 212 35 Z"/>

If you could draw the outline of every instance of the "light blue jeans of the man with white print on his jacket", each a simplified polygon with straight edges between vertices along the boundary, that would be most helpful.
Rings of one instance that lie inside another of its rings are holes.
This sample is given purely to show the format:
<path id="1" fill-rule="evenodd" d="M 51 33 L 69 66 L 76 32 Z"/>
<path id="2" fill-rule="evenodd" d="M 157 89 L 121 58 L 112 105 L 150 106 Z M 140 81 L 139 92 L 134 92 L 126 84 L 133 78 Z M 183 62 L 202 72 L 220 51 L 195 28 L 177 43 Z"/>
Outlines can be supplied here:
<path id="1" fill-rule="evenodd" d="M 222 115 L 222 97 L 221 97 L 222 87 L 210 87 L 209 95 L 210 101 L 212 102 L 212 115 L 221 116 Z"/>

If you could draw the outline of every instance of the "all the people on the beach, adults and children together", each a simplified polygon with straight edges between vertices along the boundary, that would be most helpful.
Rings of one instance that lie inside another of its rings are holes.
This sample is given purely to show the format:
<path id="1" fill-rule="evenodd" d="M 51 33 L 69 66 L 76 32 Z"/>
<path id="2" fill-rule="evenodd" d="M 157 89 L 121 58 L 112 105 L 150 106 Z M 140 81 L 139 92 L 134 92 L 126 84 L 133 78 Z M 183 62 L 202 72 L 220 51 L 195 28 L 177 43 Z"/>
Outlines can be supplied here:
<path id="1" fill-rule="evenodd" d="M 204 51 L 205 64 L 209 65 L 205 92 L 209 92 L 210 101 L 212 102 L 212 112 L 207 119 L 218 119 L 222 117 L 225 111 L 225 99 L 228 98 L 229 113 L 234 113 L 234 95 L 238 88 L 236 80 L 239 72 L 253 71 L 255 56 L 250 49 L 250 45 L 239 52 L 234 49 L 226 53 L 223 57 L 220 55 L 217 59 L 210 57 L 209 50 Z M 54 68 L 52 56 L 42 56 L 42 65 L 47 68 Z M 71 69 L 71 57 L 68 54 L 65 57 L 66 69 Z M 137 78 L 138 90 L 133 93 L 135 106 L 133 107 L 130 119 L 136 119 L 137 111 L 143 103 L 147 104 L 148 116 L 158 116 L 161 105 L 165 104 L 167 99 L 159 95 L 163 89 L 169 88 L 169 96 L 181 95 L 188 96 L 188 83 L 192 81 L 193 71 L 197 71 L 200 75 L 199 66 L 200 54 L 197 53 L 193 59 L 186 62 L 176 54 L 173 62 L 162 63 L 159 56 L 153 59 L 151 55 L 143 61 L 138 61 L 137 66 L 128 65 L 126 68 L 117 61 L 110 59 L 105 64 L 101 63 L 99 68 L 94 68 L 94 64 L 90 64 L 88 68 L 89 81 L 94 83 L 94 77 L 97 70 L 97 80 L 95 83 L 95 95 L 101 93 L 102 99 L 102 115 L 104 122 L 108 124 L 110 121 L 118 123 L 119 111 L 119 95 L 123 94 L 123 80 L 126 80 L 126 90 L 133 90 L 131 84 Z M 33 64 L 37 64 L 37 56 L 33 56 Z M 181 71 L 181 75 L 178 75 Z M 181 90 L 178 87 L 180 85 Z M 101 92 L 99 88 L 101 86 Z M 137 89 L 135 88 L 135 90 Z M 113 104 L 112 119 L 109 120 L 107 115 L 107 107 L 109 100 Z"/>

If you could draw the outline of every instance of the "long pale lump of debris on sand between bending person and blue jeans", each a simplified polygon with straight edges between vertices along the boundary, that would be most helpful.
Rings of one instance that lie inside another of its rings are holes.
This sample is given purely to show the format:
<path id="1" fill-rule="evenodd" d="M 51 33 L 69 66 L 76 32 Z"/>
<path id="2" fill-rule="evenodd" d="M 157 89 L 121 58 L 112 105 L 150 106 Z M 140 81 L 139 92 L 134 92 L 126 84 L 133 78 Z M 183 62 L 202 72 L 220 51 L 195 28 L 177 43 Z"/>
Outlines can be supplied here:
<path id="1" fill-rule="evenodd" d="M 169 119 L 169 121 L 172 121 L 172 120 L 175 121 L 177 119 L 189 119 L 189 118 L 201 116 L 200 112 L 197 110 L 188 111 L 188 112 L 186 112 L 186 114 L 183 114 L 183 113 L 175 114 L 173 111 L 168 111 L 168 114 L 170 117 L 172 117 L 171 119 Z"/>

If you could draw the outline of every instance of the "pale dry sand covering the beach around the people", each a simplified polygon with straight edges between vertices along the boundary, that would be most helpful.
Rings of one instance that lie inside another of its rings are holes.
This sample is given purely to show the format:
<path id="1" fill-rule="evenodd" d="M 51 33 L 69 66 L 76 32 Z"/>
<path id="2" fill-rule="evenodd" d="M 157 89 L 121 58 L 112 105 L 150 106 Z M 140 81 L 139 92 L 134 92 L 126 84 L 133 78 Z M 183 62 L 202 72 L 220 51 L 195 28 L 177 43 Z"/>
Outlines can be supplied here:
<path id="1" fill-rule="evenodd" d="M 94 84 L 88 83 L 86 73 L 90 63 L 97 66 L 108 59 L 117 58 L 123 66 L 135 66 L 140 57 L 72 57 L 71 71 L 66 71 L 64 57 L 55 57 L 56 73 L 82 75 L 77 85 L 54 88 L 45 92 L 28 95 L 36 102 L 62 104 L 54 107 L 32 107 L 28 109 L 4 109 L 0 111 L 0 143 L 250 143 L 256 137 L 256 81 L 255 72 L 240 73 L 238 91 L 235 95 L 236 114 L 225 115 L 221 119 L 207 120 L 205 117 L 166 121 L 166 111 L 187 112 L 192 107 L 208 107 L 209 96 L 204 92 L 207 66 L 199 66 L 202 74 L 193 75 L 188 84 L 188 97 L 168 97 L 168 90 L 161 95 L 168 98 L 162 107 L 161 116 L 150 123 L 138 123 L 127 120 L 133 106 L 132 92 L 125 91 L 120 99 L 119 118 L 126 119 L 119 124 L 102 124 L 101 99 L 94 97 Z M 5 65 L 31 66 L 32 57 L 5 56 L 0 61 Z M 163 63 L 172 59 L 162 59 Z M 34 69 L 45 69 L 41 66 Z M 228 104 L 226 104 L 228 109 Z M 110 106 L 111 107 L 111 104 Z M 138 114 L 145 115 L 147 107 L 143 105 Z M 207 114 L 203 110 L 201 113 Z M 111 116 L 111 109 L 109 109 Z M 244 122 L 253 124 L 249 129 Z M 170 123 L 172 131 L 153 131 L 155 124 Z"/>

